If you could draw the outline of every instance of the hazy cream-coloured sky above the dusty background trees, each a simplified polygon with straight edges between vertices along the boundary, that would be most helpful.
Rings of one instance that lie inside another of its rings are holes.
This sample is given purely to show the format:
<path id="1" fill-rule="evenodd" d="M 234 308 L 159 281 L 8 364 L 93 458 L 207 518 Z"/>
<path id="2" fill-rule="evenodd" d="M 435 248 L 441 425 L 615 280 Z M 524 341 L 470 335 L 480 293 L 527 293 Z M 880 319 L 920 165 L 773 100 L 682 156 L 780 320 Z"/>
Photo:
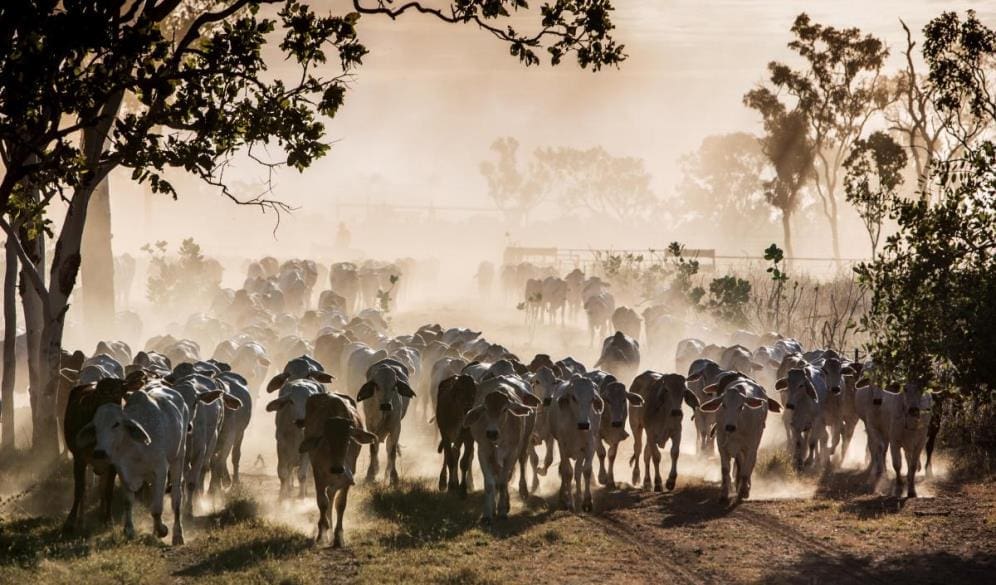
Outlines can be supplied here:
<path id="1" fill-rule="evenodd" d="M 281 236 L 336 201 L 374 199 L 487 206 L 480 161 L 494 138 L 511 135 L 526 150 L 541 145 L 604 145 L 640 156 L 661 195 L 678 181 L 677 158 L 712 133 L 755 129 L 741 105 L 772 59 L 790 59 L 789 27 L 800 12 L 817 22 L 858 26 L 892 48 L 900 65 L 902 17 L 919 32 L 942 10 L 975 8 L 996 23 L 996 2 L 936 0 L 616 0 L 616 38 L 629 59 L 598 74 L 569 62 L 526 69 L 507 46 L 471 26 L 446 25 L 420 15 L 396 22 L 365 16 L 359 24 L 370 49 L 345 107 L 329 125 L 337 140 L 329 156 L 304 175 L 282 172 L 276 195 L 301 206 Z M 345 7 L 341 0 L 313 5 Z M 283 65 L 275 61 L 280 71 Z M 121 186 L 127 189 L 126 186 Z M 193 235 L 219 222 L 266 230 L 269 219 L 232 209 L 221 200 L 187 198 L 169 204 Z M 116 207 L 123 205 L 116 201 Z M 165 209 L 159 205 L 155 209 Z M 203 213 L 211 210 L 211 213 Z M 334 218 L 334 216 L 333 216 Z M 147 241 L 155 230 L 118 231 L 124 241 Z M 267 236 L 268 236 L 268 232 Z M 207 236 L 205 236 L 207 237 Z"/>

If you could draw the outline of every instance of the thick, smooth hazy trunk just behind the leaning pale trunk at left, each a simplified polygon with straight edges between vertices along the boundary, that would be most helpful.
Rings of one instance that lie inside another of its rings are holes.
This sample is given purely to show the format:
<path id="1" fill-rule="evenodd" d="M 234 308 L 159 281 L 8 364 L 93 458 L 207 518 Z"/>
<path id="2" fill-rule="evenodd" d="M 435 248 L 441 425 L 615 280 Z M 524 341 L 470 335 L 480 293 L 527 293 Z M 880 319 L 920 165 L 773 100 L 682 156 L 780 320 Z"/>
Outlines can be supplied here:
<path id="1" fill-rule="evenodd" d="M 109 338 L 114 331 L 114 253 L 111 249 L 110 181 L 94 189 L 83 230 L 80 277 L 83 280 L 83 317 L 88 331 Z"/>

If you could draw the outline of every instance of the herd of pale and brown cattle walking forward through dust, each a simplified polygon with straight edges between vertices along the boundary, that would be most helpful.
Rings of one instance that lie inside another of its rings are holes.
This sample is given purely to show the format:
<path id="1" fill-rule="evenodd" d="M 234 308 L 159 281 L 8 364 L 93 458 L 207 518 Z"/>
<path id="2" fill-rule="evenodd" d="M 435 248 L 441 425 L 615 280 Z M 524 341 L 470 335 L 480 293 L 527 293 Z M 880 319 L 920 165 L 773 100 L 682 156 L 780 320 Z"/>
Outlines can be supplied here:
<path id="1" fill-rule="evenodd" d="M 738 333 L 728 347 L 682 340 L 677 373 L 641 372 L 637 339 L 624 330 L 608 334 L 607 323 L 591 369 L 572 357 L 555 361 L 540 353 L 520 359 L 465 328 L 427 324 L 391 336 L 384 313 L 373 307 L 383 307 L 385 287 L 393 287 L 397 274 L 386 269 L 375 289 L 343 275 L 350 270 L 355 274 L 355 266 L 334 265 L 330 288 L 311 308 L 319 274 L 313 263 L 253 263 L 242 289 L 222 291 L 209 313 L 188 322 L 201 339 L 232 332 L 217 341 L 210 358 L 197 342 L 169 335 L 150 339 L 135 354 L 120 341 L 99 343 L 90 357 L 67 354 L 62 429 L 75 494 L 65 530 L 80 528 L 92 469 L 100 477 L 105 521 L 120 477 L 126 533 L 134 534 L 132 503 L 144 492 L 154 532 L 165 537 L 162 513 L 169 493 L 173 543 L 182 544 L 182 519 L 193 513 L 194 500 L 238 484 L 243 439 L 254 401 L 264 391 L 270 395 L 265 410 L 274 419 L 280 496 L 305 496 L 310 476 L 318 540 L 328 538 L 334 505 L 336 546 L 343 544 L 343 516 L 362 446 L 369 450 L 366 479 L 381 474 L 383 445 L 384 479 L 395 485 L 403 428 L 413 432 L 414 425 L 436 433 L 441 490 L 473 489 L 477 452 L 486 521 L 508 515 L 516 471 L 519 494 L 527 497 L 555 460 L 560 503 L 592 510 L 596 456 L 598 482 L 615 487 L 616 455 L 631 433 L 633 484 L 673 489 L 687 415 L 697 450 L 705 456 L 718 452 L 724 502 L 750 496 L 772 414 L 780 414 L 799 469 L 829 470 L 835 453 L 842 460 L 860 420 L 868 434 L 873 489 L 883 478 L 887 452 L 897 493 L 904 483 L 903 453 L 910 497 L 916 495 L 914 476 L 925 445 L 930 472 L 937 430 L 931 395 L 913 383 L 871 383 L 870 362 L 852 362 L 829 349 L 804 351 L 776 334 Z M 574 307 L 574 290 L 587 298 L 579 306 L 589 315 L 592 301 L 608 295 L 596 290 L 600 281 L 583 275 L 565 282 L 567 304 L 554 305 L 553 312 Z M 283 293 L 282 303 L 273 301 L 274 291 Z M 333 383 L 341 391 L 331 391 Z M 403 427 L 406 417 L 414 420 Z M 671 465 L 662 481 L 661 449 L 668 443 Z"/>

